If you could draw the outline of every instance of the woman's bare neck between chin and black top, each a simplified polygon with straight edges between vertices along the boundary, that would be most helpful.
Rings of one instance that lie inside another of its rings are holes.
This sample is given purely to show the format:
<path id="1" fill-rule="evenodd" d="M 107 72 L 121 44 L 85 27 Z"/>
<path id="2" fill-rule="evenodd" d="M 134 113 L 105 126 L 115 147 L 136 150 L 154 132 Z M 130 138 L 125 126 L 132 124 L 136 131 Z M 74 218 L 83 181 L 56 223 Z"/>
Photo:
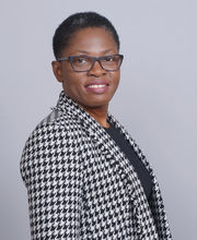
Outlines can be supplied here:
<path id="1" fill-rule="evenodd" d="M 82 106 L 82 108 L 89 112 L 102 127 L 109 128 L 109 123 L 107 122 L 108 106 L 94 108 Z"/>

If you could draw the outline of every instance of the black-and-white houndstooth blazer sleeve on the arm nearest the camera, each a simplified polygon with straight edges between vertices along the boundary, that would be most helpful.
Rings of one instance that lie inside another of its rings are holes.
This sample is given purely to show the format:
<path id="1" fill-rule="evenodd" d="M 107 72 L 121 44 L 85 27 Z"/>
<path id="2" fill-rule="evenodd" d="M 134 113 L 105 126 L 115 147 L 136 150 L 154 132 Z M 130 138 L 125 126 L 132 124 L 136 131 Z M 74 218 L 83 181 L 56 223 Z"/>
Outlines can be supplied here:
<path id="1" fill-rule="evenodd" d="M 32 239 L 80 239 L 82 189 L 79 146 L 63 125 L 39 125 L 21 158 Z"/>

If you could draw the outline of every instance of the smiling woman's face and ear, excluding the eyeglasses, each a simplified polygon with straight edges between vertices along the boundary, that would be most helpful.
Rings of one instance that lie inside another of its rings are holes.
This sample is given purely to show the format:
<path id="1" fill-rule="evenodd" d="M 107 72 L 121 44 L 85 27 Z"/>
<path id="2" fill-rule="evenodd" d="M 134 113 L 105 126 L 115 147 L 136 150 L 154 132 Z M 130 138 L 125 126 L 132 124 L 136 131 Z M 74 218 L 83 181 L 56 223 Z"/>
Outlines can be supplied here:
<path id="1" fill-rule="evenodd" d="M 116 53 L 117 44 L 111 33 L 89 27 L 73 35 L 61 56 L 102 57 Z M 53 69 L 57 80 L 62 82 L 65 93 L 85 109 L 107 108 L 119 83 L 119 70 L 105 71 L 97 61 L 88 72 L 74 72 L 69 61 L 54 61 Z"/>

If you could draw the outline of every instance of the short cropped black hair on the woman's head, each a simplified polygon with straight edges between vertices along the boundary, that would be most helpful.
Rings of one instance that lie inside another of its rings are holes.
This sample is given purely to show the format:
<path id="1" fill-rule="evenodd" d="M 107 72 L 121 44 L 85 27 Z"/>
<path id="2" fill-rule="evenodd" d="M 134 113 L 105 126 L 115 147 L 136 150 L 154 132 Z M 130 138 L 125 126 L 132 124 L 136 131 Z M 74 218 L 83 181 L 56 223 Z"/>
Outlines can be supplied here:
<path id="1" fill-rule="evenodd" d="M 109 20 L 96 12 L 80 12 L 70 15 L 56 29 L 53 38 L 55 58 L 58 59 L 62 57 L 61 52 L 65 47 L 69 45 L 69 40 L 73 34 L 86 27 L 102 27 L 108 31 L 112 34 L 119 50 L 119 37 Z"/>

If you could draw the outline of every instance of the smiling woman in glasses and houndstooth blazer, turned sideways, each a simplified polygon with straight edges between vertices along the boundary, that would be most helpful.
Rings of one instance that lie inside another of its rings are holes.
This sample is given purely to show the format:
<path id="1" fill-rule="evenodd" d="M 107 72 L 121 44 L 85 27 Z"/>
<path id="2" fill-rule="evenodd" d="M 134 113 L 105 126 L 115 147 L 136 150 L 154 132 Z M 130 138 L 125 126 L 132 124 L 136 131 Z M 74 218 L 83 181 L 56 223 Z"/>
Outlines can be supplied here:
<path id="1" fill-rule="evenodd" d="M 108 113 L 119 83 L 119 38 L 97 13 L 54 36 L 57 107 L 28 137 L 21 173 L 32 239 L 172 239 L 155 176 Z"/>

